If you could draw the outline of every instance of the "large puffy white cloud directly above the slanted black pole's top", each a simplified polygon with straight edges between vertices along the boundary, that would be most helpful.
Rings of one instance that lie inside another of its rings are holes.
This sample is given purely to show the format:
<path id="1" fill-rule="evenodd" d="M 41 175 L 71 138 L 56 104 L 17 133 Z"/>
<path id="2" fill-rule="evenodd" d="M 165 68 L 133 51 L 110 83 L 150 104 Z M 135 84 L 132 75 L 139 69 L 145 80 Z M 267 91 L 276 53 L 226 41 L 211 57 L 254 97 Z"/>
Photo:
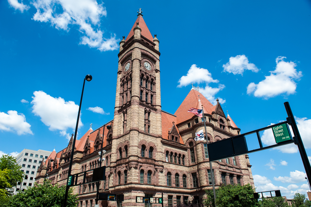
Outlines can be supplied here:
<path id="1" fill-rule="evenodd" d="M 258 84 L 250 83 L 247 87 L 247 94 L 254 94 L 256 97 L 263 97 L 268 99 L 281 94 L 294 94 L 296 92 L 297 83 L 302 77 L 302 72 L 295 69 L 297 66 L 294 62 L 285 62 L 283 59 L 286 57 L 276 58 L 276 69 L 270 71 L 269 76 Z"/>

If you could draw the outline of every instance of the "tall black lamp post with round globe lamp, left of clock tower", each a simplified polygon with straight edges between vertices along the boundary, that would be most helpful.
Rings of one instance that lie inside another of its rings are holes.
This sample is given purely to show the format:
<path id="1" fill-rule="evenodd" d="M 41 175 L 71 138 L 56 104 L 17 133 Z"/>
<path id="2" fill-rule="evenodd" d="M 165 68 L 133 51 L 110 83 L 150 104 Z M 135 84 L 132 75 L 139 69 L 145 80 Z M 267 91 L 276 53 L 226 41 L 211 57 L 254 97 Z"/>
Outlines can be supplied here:
<path id="1" fill-rule="evenodd" d="M 80 118 L 81 103 L 82 103 L 82 96 L 83 96 L 85 80 L 91 81 L 92 80 L 92 76 L 89 75 L 89 74 L 86 75 L 85 78 L 84 78 L 84 81 L 83 81 L 81 100 L 80 100 L 80 106 L 79 106 L 78 118 L 77 118 L 76 130 L 75 130 L 75 136 L 73 138 L 72 150 L 71 150 L 71 156 L 70 156 L 70 164 L 69 164 L 69 172 L 68 172 L 67 183 L 66 183 L 66 193 L 65 193 L 64 207 L 67 207 L 67 199 L 68 199 L 68 191 L 69 191 L 68 180 L 69 180 L 69 176 L 71 176 L 73 153 L 74 153 L 74 150 L 75 150 L 75 144 L 76 144 L 76 138 L 77 138 L 77 131 L 78 131 L 78 124 L 79 124 L 79 118 Z"/>

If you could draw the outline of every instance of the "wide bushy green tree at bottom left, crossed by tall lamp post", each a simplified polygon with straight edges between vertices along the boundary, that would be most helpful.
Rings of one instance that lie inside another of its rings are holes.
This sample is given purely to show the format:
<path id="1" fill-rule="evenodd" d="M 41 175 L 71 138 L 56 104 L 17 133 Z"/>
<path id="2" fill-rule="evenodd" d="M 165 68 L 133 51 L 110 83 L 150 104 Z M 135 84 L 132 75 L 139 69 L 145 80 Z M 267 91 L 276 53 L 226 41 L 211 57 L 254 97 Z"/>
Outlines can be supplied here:
<path id="1" fill-rule="evenodd" d="M 64 204 L 66 185 L 53 186 L 49 180 L 44 184 L 35 184 L 27 188 L 24 192 L 19 192 L 12 196 L 6 207 L 60 207 Z M 69 189 L 67 207 L 76 207 L 78 195 L 73 194 L 73 189 Z"/>

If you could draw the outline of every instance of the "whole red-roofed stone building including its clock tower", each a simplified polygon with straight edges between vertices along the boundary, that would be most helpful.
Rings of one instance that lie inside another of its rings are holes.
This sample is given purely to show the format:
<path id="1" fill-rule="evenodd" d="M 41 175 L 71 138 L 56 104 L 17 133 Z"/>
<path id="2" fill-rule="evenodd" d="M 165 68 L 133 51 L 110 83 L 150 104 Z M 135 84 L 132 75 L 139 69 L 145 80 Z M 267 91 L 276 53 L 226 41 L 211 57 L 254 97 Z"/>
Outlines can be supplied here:
<path id="1" fill-rule="evenodd" d="M 74 187 L 80 198 L 78 206 L 94 206 L 98 187 L 100 192 L 124 195 L 122 204 L 99 201 L 100 206 L 144 206 L 136 203 L 136 196 L 160 198 L 162 193 L 164 206 L 202 204 L 205 190 L 212 188 L 206 140 L 194 140 L 196 132 L 204 131 L 203 119 L 187 110 L 203 106 L 207 122 L 204 135 L 209 142 L 238 135 L 240 129 L 225 116 L 219 102 L 213 106 L 195 87 L 174 115 L 161 110 L 159 40 L 156 35 L 152 38 L 141 15 L 126 40 L 121 40 L 118 57 L 114 120 L 105 124 L 112 129 L 90 128 L 77 140 L 72 167 L 72 174 L 99 167 L 98 152 L 104 137 L 106 180 L 99 186 Z M 67 148 L 51 153 L 54 162 L 49 158 L 42 162 L 38 183 L 43 182 L 47 170 L 53 184 L 66 184 L 72 142 L 73 138 Z M 254 186 L 248 155 L 213 162 L 212 167 L 216 187 Z"/>

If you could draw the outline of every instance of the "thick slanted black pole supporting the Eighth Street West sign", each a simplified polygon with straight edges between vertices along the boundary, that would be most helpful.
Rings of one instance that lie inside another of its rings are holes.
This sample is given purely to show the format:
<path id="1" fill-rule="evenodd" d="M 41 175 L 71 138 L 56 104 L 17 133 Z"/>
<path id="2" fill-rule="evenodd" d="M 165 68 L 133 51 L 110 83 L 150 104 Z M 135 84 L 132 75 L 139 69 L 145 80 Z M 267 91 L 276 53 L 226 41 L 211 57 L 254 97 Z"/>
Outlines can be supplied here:
<path id="1" fill-rule="evenodd" d="M 287 120 L 287 121 L 291 122 L 291 127 L 293 129 L 293 133 L 294 133 L 294 136 L 295 136 L 294 139 L 296 139 L 298 141 L 297 146 L 298 146 L 298 149 L 299 149 L 299 153 L 300 153 L 302 162 L 304 164 L 304 169 L 306 170 L 306 174 L 307 174 L 308 180 L 310 180 L 311 179 L 311 174 L 310 174 L 311 173 L 311 166 L 310 166 L 310 162 L 309 162 L 309 159 L 308 159 L 308 155 L 307 155 L 306 150 L 304 148 L 304 143 L 302 142 L 301 136 L 299 134 L 299 130 L 298 130 L 298 127 L 297 127 L 297 124 L 296 124 L 293 112 L 290 109 L 290 104 L 288 102 L 285 102 L 284 106 L 285 106 L 288 118 L 290 119 L 290 120 Z"/>

